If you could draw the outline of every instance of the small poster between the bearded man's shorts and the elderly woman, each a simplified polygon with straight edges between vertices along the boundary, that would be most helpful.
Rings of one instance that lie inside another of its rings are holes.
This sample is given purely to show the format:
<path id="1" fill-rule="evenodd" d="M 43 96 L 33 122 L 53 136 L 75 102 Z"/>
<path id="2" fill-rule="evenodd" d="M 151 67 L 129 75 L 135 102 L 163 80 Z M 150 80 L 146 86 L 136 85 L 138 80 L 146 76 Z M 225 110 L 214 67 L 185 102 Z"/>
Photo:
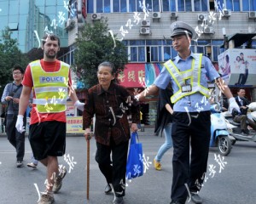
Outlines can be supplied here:
<path id="1" fill-rule="evenodd" d="M 67 116 L 67 133 L 84 133 L 82 116 Z"/>

